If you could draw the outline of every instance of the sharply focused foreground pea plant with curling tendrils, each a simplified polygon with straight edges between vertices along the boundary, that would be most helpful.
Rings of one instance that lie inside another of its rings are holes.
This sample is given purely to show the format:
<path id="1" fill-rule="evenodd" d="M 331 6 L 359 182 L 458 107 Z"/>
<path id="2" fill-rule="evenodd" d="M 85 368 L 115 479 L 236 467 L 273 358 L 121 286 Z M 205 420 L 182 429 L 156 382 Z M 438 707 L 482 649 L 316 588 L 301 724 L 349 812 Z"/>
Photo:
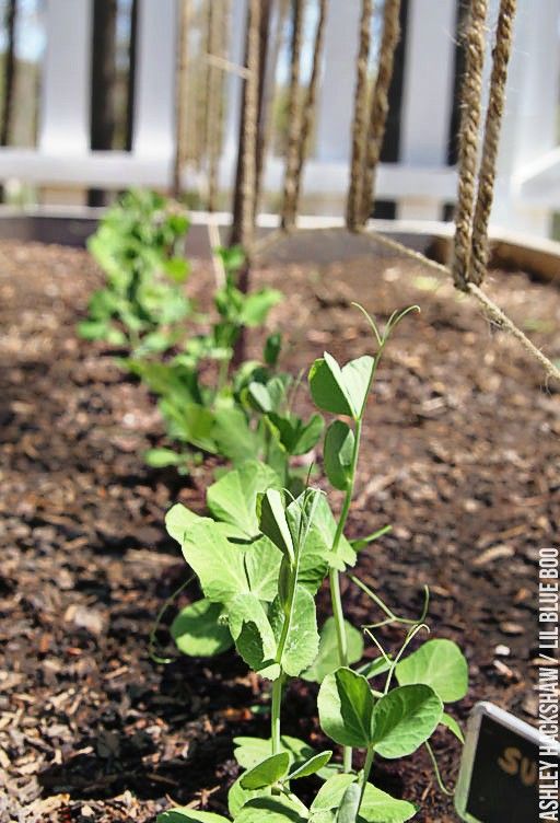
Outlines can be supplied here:
<path id="1" fill-rule="evenodd" d="M 450 640 L 433 639 L 405 654 L 427 629 L 428 596 L 418 619 L 396 615 L 351 572 L 358 552 L 380 533 L 353 543 L 345 535 L 368 396 L 389 336 L 409 311 L 392 315 L 383 334 L 366 315 L 376 343 L 373 356 L 340 367 L 325 353 L 311 368 L 316 405 L 337 416 L 325 433 L 323 462 L 331 486 L 345 491 L 338 518 L 323 490 L 306 485 L 295 496 L 282 487 L 271 466 L 259 461 L 245 462 L 208 488 L 208 517 L 182 505 L 167 513 L 167 531 L 179 543 L 202 592 L 202 599 L 182 610 L 172 625 L 179 649 L 209 657 L 234 646 L 247 665 L 271 684 L 270 737 L 233 741 L 243 769 L 228 796 L 235 823 L 408 821 L 417 807 L 371 783 L 374 757 L 408 756 L 429 745 L 439 726 L 463 737 L 445 710 L 446 703 L 460 699 L 467 691 L 467 663 L 460 650 Z M 342 573 L 383 615 L 362 627 L 380 651 L 364 662 L 363 634 L 343 613 Z M 327 578 L 332 616 L 319 631 L 315 596 Z M 393 653 L 375 634 L 387 624 L 406 630 Z M 319 723 L 325 735 L 342 746 L 340 763 L 332 761 L 334 747 L 315 751 L 282 733 L 282 699 L 293 677 L 319 684 Z M 354 750 L 361 754 L 359 762 Z M 313 776 L 318 789 L 304 803 L 298 781 Z M 228 820 L 189 808 L 158 818 L 159 823 Z"/>

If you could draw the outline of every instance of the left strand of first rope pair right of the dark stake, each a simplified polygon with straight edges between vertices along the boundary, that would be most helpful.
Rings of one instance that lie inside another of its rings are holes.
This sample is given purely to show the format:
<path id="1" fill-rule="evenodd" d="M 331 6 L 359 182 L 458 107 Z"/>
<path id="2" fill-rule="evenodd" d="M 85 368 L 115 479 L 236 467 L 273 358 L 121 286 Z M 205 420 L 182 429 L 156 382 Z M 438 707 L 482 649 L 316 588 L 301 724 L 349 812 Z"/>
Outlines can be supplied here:
<path id="1" fill-rule="evenodd" d="M 284 190 L 282 200 L 282 228 L 295 222 L 295 177 L 298 174 L 299 136 L 301 129 L 300 59 L 302 48 L 303 12 L 305 0 L 292 0 L 292 43 L 290 63 L 290 97 L 288 106 L 288 147 L 285 152 Z"/>

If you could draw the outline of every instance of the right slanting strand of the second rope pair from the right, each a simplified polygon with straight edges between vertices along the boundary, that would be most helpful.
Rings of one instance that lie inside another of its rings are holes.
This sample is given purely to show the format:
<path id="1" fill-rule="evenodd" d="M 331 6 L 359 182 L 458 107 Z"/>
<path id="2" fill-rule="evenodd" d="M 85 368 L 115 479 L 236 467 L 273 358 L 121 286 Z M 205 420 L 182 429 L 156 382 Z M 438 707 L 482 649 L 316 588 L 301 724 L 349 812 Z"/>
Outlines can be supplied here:
<path id="1" fill-rule="evenodd" d="M 375 200 L 375 172 L 381 157 L 385 124 L 389 111 L 388 93 L 393 78 L 395 49 L 400 38 L 400 0 L 385 0 L 383 9 L 383 34 L 380 49 L 380 67 L 373 90 L 370 112 L 370 131 L 363 173 L 362 202 L 359 222 L 364 224 Z"/>

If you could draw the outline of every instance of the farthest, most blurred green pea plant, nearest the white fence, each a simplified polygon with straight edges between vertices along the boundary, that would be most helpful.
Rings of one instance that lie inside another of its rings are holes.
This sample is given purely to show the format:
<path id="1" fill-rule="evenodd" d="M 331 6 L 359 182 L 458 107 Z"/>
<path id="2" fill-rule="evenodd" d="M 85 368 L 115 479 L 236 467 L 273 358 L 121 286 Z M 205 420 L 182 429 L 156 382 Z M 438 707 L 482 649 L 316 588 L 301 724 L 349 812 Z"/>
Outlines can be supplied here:
<path id="1" fill-rule="evenodd" d="M 128 192 L 102 219 L 88 247 L 105 274 L 80 336 L 128 347 L 137 356 L 164 351 L 180 338 L 191 312 L 183 283 L 186 213 L 152 192 Z"/>

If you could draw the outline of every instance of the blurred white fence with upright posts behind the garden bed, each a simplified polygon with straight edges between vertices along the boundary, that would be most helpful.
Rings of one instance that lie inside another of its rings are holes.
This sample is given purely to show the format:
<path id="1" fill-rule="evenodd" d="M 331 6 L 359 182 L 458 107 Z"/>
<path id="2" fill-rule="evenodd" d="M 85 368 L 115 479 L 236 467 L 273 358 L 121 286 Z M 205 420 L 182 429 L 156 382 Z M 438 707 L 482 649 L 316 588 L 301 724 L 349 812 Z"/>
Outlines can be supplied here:
<path id="1" fill-rule="evenodd" d="M 89 148 L 92 4 L 46 0 L 38 146 L 0 149 L 0 179 L 106 188 L 171 184 L 177 2 L 140 0 L 131 152 Z M 492 222 L 547 235 L 551 211 L 560 210 L 560 0 L 520 0 L 518 5 Z M 490 7 L 493 28 L 498 0 Z M 230 59 L 236 63 L 242 61 L 245 12 L 246 0 L 233 0 Z M 455 200 L 456 172 L 447 165 L 447 147 L 456 12 L 456 0 L 409 0 L 399 161 L 381 164 L 376 186 L 380 199 L 397 202 L 400 218 L 440 219 L 442 206 Z M 323 195 L 331 205 L 348 182 L 359 14 L 359 0 L 330 0 L 316 148 L 304 193 Z M 235 170 L 241 97 L 241 80 L 231 77 L 229 83 L 223 187 L 231 186 Z M 282 171 L 280 160 L 268 160 L 268 190 L 279 190 Z"/>

